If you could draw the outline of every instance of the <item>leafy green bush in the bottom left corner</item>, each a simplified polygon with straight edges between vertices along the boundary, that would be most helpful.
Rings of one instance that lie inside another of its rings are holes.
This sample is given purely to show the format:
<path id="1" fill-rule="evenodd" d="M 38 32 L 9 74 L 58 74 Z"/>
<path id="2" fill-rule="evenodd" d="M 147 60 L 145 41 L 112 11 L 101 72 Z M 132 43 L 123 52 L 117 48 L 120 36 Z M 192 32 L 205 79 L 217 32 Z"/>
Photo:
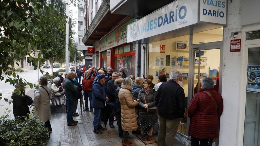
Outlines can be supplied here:
<path id="1" fill-rule="evenodd" d="M 32 114 L 25 121 L 0 118 L 0 145 L 43 146 L 49 139 L 48 128 Z"/>

